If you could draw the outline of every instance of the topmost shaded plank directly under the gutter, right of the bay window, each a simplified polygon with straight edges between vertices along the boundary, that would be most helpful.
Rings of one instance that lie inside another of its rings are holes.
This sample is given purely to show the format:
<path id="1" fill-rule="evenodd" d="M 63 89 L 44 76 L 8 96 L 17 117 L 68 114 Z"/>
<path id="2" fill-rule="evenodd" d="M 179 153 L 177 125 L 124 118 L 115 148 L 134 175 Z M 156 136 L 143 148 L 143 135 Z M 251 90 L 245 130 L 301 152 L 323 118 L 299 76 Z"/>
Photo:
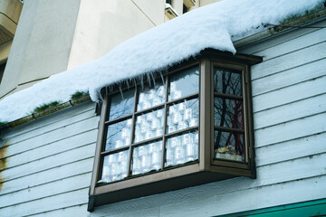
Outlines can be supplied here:
<path id="1" fill-rule="evenodd" d="M 320 21 L 320 22 L 317 22 L 312 25 L 313 26 L 326 26 L 326 21 Z M 274 47 L 278 44 L 281 44 L 284 42 L 291 42 L 292 40 L 294 40 L 298 37 L 302 37 L 306 34 L 313 33 L 315 31 L 318 31 L 318 29 L 299 28 L 299 29 L 296 29 L 293 31 L 288 31 L 287 33 L 273 35 L 272 37 L 268 38 L 267 40 L 250 43 L 243 47 L 236 48 L 236 51 L 240 52 L 240 53 L 256 54 L 257 52 L 264 51 L 264 50 Z"/>

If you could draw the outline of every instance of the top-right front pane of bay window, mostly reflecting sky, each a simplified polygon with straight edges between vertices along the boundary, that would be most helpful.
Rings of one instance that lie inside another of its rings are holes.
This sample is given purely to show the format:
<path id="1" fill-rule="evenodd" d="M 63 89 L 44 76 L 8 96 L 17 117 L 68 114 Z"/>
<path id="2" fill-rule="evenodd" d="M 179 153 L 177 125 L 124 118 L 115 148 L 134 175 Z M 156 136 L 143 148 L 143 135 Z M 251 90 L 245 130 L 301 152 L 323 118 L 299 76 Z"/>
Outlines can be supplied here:
<path id="1" fill-rule="evenodd" d="M 168 100 L 186 97 L 199 91 L 199 67 L 194 66 L 171 76 Z"/>

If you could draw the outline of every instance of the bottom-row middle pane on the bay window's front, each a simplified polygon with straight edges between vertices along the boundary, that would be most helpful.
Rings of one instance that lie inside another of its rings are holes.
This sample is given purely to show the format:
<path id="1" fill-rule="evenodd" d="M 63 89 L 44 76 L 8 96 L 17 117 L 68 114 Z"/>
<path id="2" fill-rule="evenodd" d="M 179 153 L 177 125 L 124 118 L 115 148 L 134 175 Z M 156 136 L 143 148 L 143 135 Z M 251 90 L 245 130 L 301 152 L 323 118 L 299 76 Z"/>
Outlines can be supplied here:
<path id="1" fill-rule="evenodd" d="M 162 140 L 137 146 L 132 152 L 131 175 L 157 171 L 162 162 Z"/>

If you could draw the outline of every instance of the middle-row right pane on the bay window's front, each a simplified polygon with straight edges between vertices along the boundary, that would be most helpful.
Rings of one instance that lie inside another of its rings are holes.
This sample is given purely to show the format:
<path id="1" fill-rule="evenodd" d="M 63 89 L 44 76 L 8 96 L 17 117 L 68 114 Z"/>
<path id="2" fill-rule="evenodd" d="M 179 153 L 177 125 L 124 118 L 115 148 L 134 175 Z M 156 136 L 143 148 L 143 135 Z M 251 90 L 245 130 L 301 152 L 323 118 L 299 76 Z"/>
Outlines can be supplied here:
<path id="1" fill-rule="evenodd" d="M 184 100 L 168 107 L 167 133 L 198 126 L 198 99 Z"/>

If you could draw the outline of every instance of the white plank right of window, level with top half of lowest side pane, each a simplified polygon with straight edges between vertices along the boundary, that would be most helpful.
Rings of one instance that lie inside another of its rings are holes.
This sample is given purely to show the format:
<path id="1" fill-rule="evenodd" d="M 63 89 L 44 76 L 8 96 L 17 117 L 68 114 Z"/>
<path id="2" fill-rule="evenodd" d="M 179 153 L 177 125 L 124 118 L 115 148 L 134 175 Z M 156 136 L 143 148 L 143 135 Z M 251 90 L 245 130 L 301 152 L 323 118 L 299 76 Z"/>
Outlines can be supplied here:
<path id="1" fill-rule="evenodd" d="M 265 127 L 254 131 L 256 147 L 268 146 L 284 141 L 308 137 L 326 131 L 326 113 L 293 120 L 282 125 Z"/>

